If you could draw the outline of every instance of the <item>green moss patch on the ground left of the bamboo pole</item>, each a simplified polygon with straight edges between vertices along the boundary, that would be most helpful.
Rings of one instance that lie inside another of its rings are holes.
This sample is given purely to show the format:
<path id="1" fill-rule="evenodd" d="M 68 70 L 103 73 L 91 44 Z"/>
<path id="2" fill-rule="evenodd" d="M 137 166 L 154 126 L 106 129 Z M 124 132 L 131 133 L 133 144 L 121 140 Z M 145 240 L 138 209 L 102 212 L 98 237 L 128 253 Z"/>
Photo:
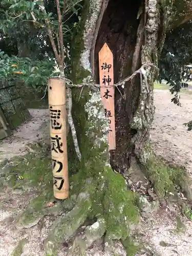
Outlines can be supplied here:
<path id="1" fill-rule="evenodd" d="M 45 190 L 46 187 L 52 191 L 51 153 L 48 153 L 44 146 L 30 145 L 30 147 L 34 153 L 14 157 L 11 161 L 0 165 L 0 178 L 4 179 L 6 186 L 14 189 L 26 190 L 32 187 L 40 191 Z"/>

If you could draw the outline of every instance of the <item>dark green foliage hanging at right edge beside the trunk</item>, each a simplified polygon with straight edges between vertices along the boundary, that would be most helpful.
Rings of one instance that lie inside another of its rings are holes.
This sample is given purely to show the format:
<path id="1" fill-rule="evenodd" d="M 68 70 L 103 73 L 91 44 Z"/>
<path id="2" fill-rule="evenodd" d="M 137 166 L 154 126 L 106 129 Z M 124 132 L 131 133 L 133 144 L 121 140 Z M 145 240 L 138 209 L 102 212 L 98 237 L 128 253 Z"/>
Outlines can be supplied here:
<path id="1" fill-rule="evenodd" d="M 176 93 L 172 101 L 177 105 L 180 105 L 178 92 L 181 88 L 188 87 L 183 75 L 187 73 L 186 65 L 192 63 L 191 38 L 191 22 L 169 31 L 159 61 L 159 81 L 167 81 L 170 92 Z"/>

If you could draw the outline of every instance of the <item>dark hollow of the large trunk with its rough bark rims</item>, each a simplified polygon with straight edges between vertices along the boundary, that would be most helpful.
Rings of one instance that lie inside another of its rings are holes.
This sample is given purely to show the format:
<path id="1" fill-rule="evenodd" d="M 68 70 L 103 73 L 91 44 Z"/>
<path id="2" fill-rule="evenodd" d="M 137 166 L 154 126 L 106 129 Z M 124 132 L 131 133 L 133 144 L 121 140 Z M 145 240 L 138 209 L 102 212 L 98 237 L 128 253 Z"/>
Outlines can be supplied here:
<path id="1" fill-rule="evenodd" d="M 117 147 L 110 152 L 111 165 L 117 172 L 124 173 L 131 167 L 132 159 L 147 161 L 145 145 L 154 116 L 153 83 L 157 78 L 157 69 L 150 64 L 158 65 L 165 36 L 165 16 L 157 1 L 145 1 L 145 5 L 141 0 L 97 4 L 90 1 L 90 10 L 92 8 L 97 11 L 93 11 L 87 21 L 92 27 L 89 25 L 84 33 L 81 63 L 84 69 L 91 67 L 96 82 L 99 83 L 98 53 L 105 42 L 114 55 L 115 83 L 148 64 L 145 67 L 147 84 L 138 74 L 126 82 L 124 88 L 119 87 L 121 93 L 117 88 L 115 91 Z"/>

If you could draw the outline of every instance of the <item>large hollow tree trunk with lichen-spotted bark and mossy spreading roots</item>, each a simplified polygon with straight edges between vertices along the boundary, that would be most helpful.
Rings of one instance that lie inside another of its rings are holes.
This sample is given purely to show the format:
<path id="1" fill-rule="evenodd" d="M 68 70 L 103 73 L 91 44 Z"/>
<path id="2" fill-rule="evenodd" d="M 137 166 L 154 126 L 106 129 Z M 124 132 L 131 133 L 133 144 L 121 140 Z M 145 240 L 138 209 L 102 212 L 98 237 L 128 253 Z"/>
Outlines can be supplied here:
<path id="1" fill-rule="evenodd" d="M 153 84 L 158 74 L 165 31 L 173 24 L 168 15 L 173 2 L 169 6 L 164 6 L 164 2 L 84 1 L 71 50 L 73 82 L 87 84 L 94 79 L 98 83 L 98 53 L 105 42 L 114 55 L 115 82 L 132 75 L 143 65 L 144 76 L 134 76 L 124 88 L 119 87 L 121 93 L 115 91 L 117 148 L 110 152 L 110 156 L 104 136 L 106 123 L 99 91 L 73 89 L 72 112 L 82 160 L 80 165 L 75 164 L 77 157 L 69 139 L 69 169 L 76 173 L 71 178 L 73 196 L 70 208 L 73 209 L 53 224 L 45 242 L 47 255 L 57 255 L 58 244 L 63 239 L 69 240 L 83 223 L 89 226 L 73 243 L 73 248 L 80 247 L 80 252 L 101 237 L 105 238 L 105 247 L 112 250 L 113 240 L 126 242 L 131 234 L 130 224 L 139 220 L 138 195 L 127 190 L 124 182 L 127 174 L 134 173 L 135 181 L 141 180 L 138 170 L 143 177 L 146 175 L 161 200 L 166 191 L 172 191 L 173 195 L 174 183 L 183 193 L 188 193 L 179 170 L 170 175 L 168 169 L 160 165 L 162 163 L 151 162 L 154 158 L 150 146 L 150 127 L 154 117 Z M 109 162 L 124 178 L 113 172 Z M 190 193 L 187 196 L 190 197 Z M 89 221 L 85 222 L 87 217 Z"/>

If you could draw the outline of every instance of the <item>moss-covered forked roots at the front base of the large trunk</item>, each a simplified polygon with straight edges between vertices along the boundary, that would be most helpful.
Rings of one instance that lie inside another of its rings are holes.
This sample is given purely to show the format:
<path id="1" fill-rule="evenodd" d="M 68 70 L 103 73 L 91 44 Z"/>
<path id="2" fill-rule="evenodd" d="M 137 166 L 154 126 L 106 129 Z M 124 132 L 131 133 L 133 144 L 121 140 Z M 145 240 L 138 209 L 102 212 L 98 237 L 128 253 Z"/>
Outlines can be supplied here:
<path id="1" fill-rule="evenodd" d="M 137 196 L 126 189 L 123 177 L 107 167 L 98 179 L 84 181 L 74 208 L 53 223 L 45 240 L 45 255 L 56 256 L 61 243 L 73 237 L 76 238 L 70 252 L 75 250 L 78 255 L 83 255 L 103 236 L 110 243 L 125 240 L 130 235 L 130 225 L 139 221 L 136 205 Z M 76 236 L 76 231 L 87 219 L 95 222 Z"/>

